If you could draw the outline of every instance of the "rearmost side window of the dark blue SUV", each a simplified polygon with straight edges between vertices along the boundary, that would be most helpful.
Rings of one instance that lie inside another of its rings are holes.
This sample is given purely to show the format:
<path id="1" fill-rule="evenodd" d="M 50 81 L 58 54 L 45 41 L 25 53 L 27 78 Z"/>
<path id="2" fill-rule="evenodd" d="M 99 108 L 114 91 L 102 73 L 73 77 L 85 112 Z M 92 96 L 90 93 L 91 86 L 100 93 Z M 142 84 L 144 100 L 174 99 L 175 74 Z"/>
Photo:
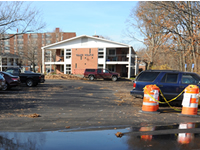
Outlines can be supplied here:
<path id="1" fill-rule="evenodd" d="M 137 77 L 136 81 L 153 82 L 158 75 L 159 72 L 143 72 Z"/>

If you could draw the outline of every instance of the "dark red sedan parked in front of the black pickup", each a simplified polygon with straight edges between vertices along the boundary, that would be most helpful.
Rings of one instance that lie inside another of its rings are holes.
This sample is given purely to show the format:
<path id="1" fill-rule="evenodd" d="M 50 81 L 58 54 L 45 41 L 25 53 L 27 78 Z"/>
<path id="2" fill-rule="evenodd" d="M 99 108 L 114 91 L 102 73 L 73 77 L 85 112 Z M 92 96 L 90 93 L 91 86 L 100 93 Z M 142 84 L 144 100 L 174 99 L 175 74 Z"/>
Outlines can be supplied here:
<path id="1" fill-rule="evenodd" d="M 3 91 L 11 89 L 12 87 L 16 87 L 20 85 L 20 78 L 19 76 L 13 76 L 7 72 L 1 71 L 0 74 L 5 78 L 6 83 L 2 88 Z"/>

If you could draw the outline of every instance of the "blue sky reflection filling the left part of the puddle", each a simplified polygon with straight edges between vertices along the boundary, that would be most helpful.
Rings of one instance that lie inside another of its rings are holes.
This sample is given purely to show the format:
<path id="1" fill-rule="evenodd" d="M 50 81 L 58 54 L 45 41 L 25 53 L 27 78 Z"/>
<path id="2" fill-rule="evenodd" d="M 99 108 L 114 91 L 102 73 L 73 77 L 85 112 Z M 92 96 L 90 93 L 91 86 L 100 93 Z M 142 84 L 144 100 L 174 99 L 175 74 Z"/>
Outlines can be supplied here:
<path id="1" fill-rule="evenodd" d="M 0 149 L 11 150 L 104 150 L 128 149 L 118 130 L 72 132 L 0 132 Z M 120 129 L 128 132 L 128 129 Z"/>

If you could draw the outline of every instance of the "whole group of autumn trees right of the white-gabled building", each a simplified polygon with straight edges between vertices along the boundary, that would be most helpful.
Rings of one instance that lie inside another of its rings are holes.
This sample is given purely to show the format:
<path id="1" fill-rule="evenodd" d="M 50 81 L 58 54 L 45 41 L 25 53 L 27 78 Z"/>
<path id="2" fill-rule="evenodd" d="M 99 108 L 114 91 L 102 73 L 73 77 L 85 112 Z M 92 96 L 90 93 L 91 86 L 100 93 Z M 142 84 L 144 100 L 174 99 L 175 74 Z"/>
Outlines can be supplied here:
<path id="1" fill-rule="evenodd" d="M 185 71 L 187 64 L 187 71 L 198 72 L 199 1 L 140 1 L 131 10 L 128 23 L 128 36 L 145 45 L 138 55 L 148 69 Z"/>

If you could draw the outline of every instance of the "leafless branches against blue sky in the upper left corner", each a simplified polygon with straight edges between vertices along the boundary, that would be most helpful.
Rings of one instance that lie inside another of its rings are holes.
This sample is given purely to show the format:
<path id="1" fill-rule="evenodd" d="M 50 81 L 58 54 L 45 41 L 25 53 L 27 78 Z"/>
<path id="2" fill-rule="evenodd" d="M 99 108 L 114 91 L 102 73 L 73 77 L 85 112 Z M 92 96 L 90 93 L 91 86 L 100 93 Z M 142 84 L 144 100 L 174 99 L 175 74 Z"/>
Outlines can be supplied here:
<path id="1" fill-rule="evenodd" d="M 19 34 L 35 32 L 45 27 L 40 11 L 31 7 L 31 3 L 22 1 L 0 2 L 0 40 L 6 40 Z M 12 32 L 9 36 L 3 36 Z"/>

